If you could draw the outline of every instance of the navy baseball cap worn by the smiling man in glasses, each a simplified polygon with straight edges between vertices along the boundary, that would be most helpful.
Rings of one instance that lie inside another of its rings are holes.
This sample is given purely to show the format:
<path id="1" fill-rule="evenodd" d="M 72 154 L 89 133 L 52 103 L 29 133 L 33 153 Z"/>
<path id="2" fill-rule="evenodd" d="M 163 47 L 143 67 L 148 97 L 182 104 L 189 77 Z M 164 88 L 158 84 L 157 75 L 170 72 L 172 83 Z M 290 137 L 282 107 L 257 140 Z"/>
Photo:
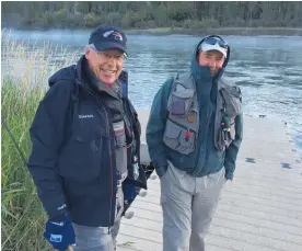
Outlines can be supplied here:
<path id="1" fill-rule="evenodd" d="M 97 50 L 118 48 L 127 54 L 127 37 L 115 26 L 96 27 L 90 35 L 89 44 L 93 44 Z"/>

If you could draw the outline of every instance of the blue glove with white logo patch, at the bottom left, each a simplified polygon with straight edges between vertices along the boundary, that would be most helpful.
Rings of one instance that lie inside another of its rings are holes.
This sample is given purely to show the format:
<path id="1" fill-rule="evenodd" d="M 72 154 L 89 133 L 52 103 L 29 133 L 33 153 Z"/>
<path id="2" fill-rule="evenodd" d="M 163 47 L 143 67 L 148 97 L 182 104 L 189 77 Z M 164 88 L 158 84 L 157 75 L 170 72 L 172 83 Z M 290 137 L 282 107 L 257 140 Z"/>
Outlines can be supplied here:
<path id="1" fill-rule="evenodd" d="M 46 223 L 45 239 L 59 251 L 66 251 L 68 246 L 76 243 L 76 235 L 69 216 L 63 221 L 56 223 L 50 219 Z"/>

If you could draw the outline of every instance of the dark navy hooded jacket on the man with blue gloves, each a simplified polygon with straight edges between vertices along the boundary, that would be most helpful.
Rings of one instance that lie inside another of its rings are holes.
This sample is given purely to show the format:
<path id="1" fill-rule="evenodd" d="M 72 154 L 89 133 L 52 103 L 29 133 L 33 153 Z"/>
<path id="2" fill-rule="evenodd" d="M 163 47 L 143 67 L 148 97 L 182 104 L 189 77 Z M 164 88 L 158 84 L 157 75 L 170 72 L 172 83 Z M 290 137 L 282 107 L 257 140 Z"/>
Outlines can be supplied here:
<path id="1" fill-rule="evenodd" d="M 77 66 L 50 77 L 50 89 L 30 129 L 33 150 L 28 168 L 50 218 L 67 210 L 76 224 L 111 227 L 120 179 L 113 122 L 117 113 L 128 116 L 131 130 L 139 122 L 129 100 L 97 90 L 85 67 L 82 57 Z M 120 102 L 125 111 L 115 106 Z M 140 132 L 136 133 L 132 140 L 139 147 Z"/>

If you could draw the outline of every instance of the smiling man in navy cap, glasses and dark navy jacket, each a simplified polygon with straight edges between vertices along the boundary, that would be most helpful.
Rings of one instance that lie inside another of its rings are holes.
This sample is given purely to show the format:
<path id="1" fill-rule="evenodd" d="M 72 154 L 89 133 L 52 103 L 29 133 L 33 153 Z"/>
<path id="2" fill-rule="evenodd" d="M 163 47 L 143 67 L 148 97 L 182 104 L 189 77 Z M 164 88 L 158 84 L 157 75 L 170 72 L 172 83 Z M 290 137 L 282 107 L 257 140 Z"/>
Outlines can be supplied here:
<path id="1" fill-rule="evenodd" d="M 60 251 L 115 250 L 121 184 L 133 178 L 140 145 L 119 80 L 126 44 L 117 27 L 93 31 L 78 64 L 49 78 L 31 127 L 28 167 L 49 216 L 44 237 Z"/>

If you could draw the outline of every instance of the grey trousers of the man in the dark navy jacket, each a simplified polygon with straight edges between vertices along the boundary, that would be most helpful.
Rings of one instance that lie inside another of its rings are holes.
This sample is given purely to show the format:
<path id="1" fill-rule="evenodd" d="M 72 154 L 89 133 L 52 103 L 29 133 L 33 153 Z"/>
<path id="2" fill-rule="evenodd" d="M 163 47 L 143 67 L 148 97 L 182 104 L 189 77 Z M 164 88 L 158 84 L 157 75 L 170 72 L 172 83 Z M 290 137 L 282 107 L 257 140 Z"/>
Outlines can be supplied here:
<path id="1" fill-rule="evenodd" d="M 116 250 L 116 236 L 120 226 L 121 213 L 124 209 L 124 194 L 121 186 L 116 195 L 116 221 L 108 232 L 107 227 L 86 227 L 73 224 L 76 233 L 74 251 L 114 251 Z"/>

